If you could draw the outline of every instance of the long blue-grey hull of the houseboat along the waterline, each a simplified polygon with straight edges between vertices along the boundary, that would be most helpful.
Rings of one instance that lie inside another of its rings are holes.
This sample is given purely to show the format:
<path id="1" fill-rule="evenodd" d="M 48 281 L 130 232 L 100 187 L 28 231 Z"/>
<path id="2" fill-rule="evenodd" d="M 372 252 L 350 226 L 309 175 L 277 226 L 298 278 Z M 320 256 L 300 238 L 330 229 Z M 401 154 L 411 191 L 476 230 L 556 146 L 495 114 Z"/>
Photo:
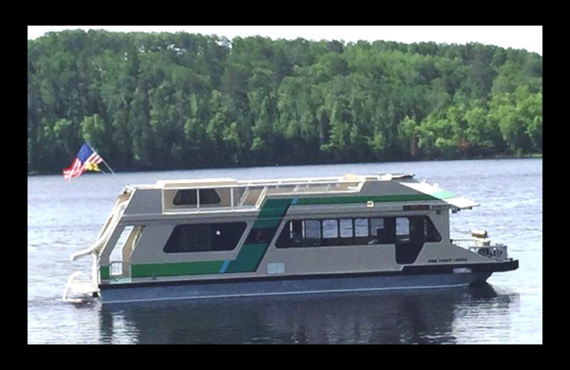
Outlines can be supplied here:
<path id="1" fill-rule="evenodd" d="M 103 304 L 204 298 L 300 295 L 328 292 L 373 292 L 467 286 L 484 282 L 492 272 L 358 277 L 279 277 L 102 285 Z"/>

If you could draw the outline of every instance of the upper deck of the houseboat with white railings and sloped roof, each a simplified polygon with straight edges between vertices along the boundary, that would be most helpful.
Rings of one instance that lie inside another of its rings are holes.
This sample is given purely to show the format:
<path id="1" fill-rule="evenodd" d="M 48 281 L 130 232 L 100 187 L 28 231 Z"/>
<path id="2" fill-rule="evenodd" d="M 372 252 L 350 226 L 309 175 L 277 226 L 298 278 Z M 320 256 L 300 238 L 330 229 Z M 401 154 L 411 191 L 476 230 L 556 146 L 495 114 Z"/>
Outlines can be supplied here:
<path id="1" fill-rule="evenodd" d="M 478 204 L 443 191 L 413 174 L 366 174 L 331 177 L 237 180 L 185 179 L 127 186 L 124 215 L 175 216 L 257 212 L 266 199 L 294 199 L 296 205 L 333 203 L 417 203 L 459 210 Z"/>

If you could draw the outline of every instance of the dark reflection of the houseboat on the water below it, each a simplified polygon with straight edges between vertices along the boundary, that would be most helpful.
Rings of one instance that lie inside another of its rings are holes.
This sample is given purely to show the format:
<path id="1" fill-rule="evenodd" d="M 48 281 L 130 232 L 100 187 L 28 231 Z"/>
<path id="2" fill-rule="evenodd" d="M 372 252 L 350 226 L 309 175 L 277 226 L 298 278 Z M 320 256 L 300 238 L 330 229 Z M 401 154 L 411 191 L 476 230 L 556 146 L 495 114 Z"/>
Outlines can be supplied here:
<path id="1" fill-rule="evenodd" d="M 105 344 L 455 344 L 510 325 L 518 295 L 441 290 L 184 300 L 100 306 Z M 484 313 L 484 314 L 483 314 Z M 503 322 L 497 325 L 497 319 Z M 502 331 L 501 331 L 502 332 Z M 475 339 L 474 339 L 475 340 Z"/>

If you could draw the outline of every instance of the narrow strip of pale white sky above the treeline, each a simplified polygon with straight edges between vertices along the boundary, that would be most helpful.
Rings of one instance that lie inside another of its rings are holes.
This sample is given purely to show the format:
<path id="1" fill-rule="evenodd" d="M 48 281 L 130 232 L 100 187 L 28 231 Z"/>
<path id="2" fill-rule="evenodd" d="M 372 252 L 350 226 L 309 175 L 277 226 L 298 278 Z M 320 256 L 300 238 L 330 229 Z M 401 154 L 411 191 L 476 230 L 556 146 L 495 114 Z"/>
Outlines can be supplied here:
<path id="1" fill-rule="evenodd" d="M 28 40 L 48 31 L 65 29 L 105 29 L 108 31 L 180 32 L 203 35 L 264 36 L 272 39 L 305 38 L 355 42 L 398 41 L 401 43 L 482 43 L 502 48 L 525 49 L 542 55 L 542 26 L 28 26 Z"/>

